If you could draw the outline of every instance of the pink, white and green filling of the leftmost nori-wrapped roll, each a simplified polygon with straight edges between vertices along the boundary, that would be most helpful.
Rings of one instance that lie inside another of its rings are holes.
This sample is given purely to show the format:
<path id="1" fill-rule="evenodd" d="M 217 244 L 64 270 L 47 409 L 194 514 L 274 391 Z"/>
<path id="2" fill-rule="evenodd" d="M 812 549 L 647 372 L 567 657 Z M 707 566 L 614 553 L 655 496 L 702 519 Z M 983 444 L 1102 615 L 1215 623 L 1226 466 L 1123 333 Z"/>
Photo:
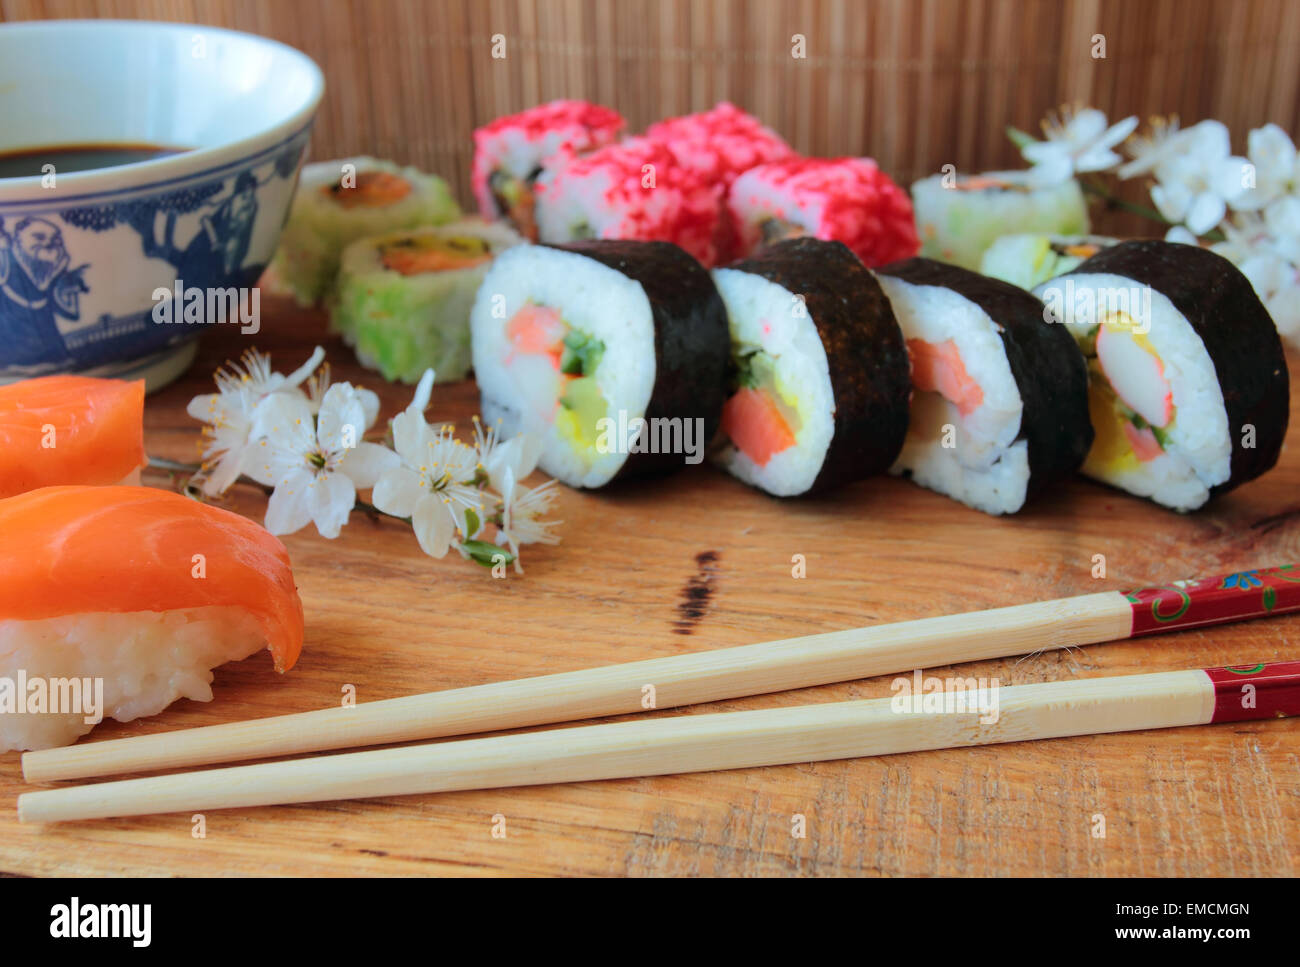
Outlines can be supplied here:
<path id="1" fill-rule="evenodd" d="M 506 324 L 506 365 L 528 406 L 578 450 L 598 439 L 608 403 L 595 381 L 604 343 L 568 325 L 550 305 L 526 303 Z"/>

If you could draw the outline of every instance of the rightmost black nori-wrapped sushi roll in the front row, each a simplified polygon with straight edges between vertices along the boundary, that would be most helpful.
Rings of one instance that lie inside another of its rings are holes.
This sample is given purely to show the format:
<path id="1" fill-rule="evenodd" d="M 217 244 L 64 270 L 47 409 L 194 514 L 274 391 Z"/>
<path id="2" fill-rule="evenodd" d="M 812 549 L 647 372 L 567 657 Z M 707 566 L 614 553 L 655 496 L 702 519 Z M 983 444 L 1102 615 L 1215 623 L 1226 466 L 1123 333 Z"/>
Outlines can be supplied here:
<path id="1" fill-rule="evenodd" d="M 1287 363 L 1268 309 L 1227 259 L 1124 242 L 1036 291 L 1088 360 L 1097 439 L 1086 474 L 1191 511 L 1278 461 Z"/>

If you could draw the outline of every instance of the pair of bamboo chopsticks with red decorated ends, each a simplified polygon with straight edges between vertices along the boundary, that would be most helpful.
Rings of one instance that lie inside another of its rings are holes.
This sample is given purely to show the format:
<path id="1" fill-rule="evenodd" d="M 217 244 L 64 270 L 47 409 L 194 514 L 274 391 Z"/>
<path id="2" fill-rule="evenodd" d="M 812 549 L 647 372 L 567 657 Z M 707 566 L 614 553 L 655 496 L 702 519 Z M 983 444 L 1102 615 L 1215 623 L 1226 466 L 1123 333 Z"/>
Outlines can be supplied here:
<path id="1" fill-rule="evenodd" d="M 23 756 L 30 781 L 289 755 L 489 732 L 864 678 L 1300 610 L 1300 569 L 1102 591 L 580 672 L 452 689 L 351 708 L 92 742 Z M 1260 717 L 1296 714 L 1297 663 L 1261 665 L 1277 697 Z M 25 820 L 136 815 L 447 789 L 738 768 L 1218 721 L 1218 672 L 1187 671 L 1001 689 L 992 724 L 913 716 L 893 699 L 592 725 L 558 732 L 324 756 L 290 763 L 27 793 Z M 1244 676 L 1249 677 L 1249 676 Z M 1252 694 L 1254 694 L 1252 691 Z M 1006 703 L 1010 704 L 1006 704 Z M 1141 706 L 1140 708 L 1136 706 Z M 1243 710 L 1244 711 L 1244 710 Z M 632 771 L 628 771 L 632 769 Z"/>

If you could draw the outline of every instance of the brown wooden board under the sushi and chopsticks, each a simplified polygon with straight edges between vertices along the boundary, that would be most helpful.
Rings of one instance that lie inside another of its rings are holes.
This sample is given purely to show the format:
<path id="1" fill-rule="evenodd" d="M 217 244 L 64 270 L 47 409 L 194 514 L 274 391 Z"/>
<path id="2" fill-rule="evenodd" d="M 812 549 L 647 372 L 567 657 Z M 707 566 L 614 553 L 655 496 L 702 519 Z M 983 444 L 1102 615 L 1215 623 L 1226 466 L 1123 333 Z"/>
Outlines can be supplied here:
<path id="1" fill-rule="evenodd" d="M 256 344 L 289 372 L 320 343 L 335 380 L 410 399 L 359 369 L 324 320 L 266 300 L 263 331 L 209 333 L 151 396 L 151 454 L 192 460 L 186 402 Z M 1292 369 L 1300 357 L 1292 356 Z M 473 383 L 434 390 L 430 419 L 468 430 Z M 1292 413 L 1292 422 L 1300 422 Z M 1294 439 L 1294 434 L 1292 434 Z M 162 474 L 147 482 L 166 486 Z M 230 506 L 260 519 L 260 493 Z M 354 515 L 337 541 L 286 539 L 307 612 L 298 665 L 265 652 L 96 741 L 595 664 L 1300 561 L 1300 452 L 1179 516 L 1084 480 L 1010 519 L 901 480 L 776 500 L 707 468 L 610 493 L 564 490 L 564 541 L 524 577 L 425 558 L 393 521 Z M 803 555 L 806 577 L 792 574 Z M 1106 576 L 1095 578 L 1093 558 Z M 1001 684 L 1300 658 L 1300 619 L 1191 630 L 963 675 Z M 942 673 L 940 671 L 939 673 Z M 890 677 L 653 715 L 889 695 Z M 12 875 L 1160 875 L 1300 873 L 1300 720 L 1238 723 L 582 782 L 18 825 L 18 755 L 0 756 L 0 872 Z M 802 818 L 803 836 L 798 832 Z M 504 833 L 502 836 L 502 833 Z"/>

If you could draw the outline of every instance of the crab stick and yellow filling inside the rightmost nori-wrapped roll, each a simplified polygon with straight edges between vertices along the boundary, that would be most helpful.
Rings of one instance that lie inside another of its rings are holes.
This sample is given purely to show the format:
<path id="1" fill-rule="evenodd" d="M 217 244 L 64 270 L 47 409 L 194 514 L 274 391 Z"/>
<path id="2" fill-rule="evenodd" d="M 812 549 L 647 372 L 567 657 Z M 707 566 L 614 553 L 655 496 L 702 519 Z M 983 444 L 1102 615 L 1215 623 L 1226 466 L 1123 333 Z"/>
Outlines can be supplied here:
<path id="1" fill-rule="evenodd" d="M 1088 461 L 1114 468 L 1161 456 L 1174 422 L 1174 391 L 1156 348 L 1126 313 L 1097 326 L 1089 370 L 1088 411 L 1097 438 Z"/>

